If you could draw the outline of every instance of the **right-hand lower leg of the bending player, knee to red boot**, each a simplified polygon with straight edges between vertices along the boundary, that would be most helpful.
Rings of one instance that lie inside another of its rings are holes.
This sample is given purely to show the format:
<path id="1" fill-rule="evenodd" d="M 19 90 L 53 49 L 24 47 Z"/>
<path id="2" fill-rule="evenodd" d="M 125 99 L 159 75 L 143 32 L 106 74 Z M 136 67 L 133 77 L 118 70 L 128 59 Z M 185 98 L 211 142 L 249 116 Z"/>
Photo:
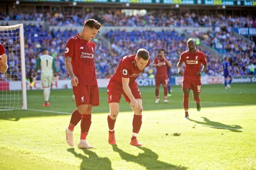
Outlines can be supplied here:
<path id="1" fill-rule="evenodd" d="M 132 110 L 134 111 L 134 118 L 132 121 L 132 126 L 133 126 L 133 130 L 132 130 L 132 137 L 131 137 L 131 145 L 134 146 L 141 146 L 142 144 L 140 142 L 138 142 L 137 140 L 137 135 L 140 131 L 140 127 L 142 125 L 142 111 L 143 111 L 143 107 L 142 107 L 142 100 L 141 99 L 136 99 L 139 107 L 138 108 L 134 108 L 132 107 Z"/>

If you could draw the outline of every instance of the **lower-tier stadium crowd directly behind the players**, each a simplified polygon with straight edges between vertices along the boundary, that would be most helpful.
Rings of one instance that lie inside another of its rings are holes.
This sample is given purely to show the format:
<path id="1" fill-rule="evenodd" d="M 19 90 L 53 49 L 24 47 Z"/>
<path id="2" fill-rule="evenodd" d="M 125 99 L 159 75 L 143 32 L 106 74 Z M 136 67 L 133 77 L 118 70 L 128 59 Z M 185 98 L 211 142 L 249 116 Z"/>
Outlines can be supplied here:
<path id="1" fill-rule="evenodd" d="M 29 17 L 29 15 L 27 15 L 27 17 Z M 35 17 L 29 19 L 34 20 Z M 76 35 L 78 31 L 46 31 L 44 27 L 40 25 L 28 25 L 24 27 L 24 30 L 27 73 L 29 74 L 34 71 L 36 60 L 41 54 L 40 50 L 42 48 L 48 48 L 50 55 L 55 57 L 57 68 L 60 69 L 58 79 L 68 79 L 69 74 L 64 64 L 64 47 L 67 39 Z M 230 70 L 232 75 L 256 74 L 255 44 L 248 45 L 241 38 L 232 36 L 228 29 L 209 31 L 206 33 L 189 31 L 188 34 L 192 37 L 197 37 L 201 40 L 201 43 L 217 50 L 223 54 L 223 57 L 229 57 L 232 66 Z M 101 37 L 93 39 L 96 44 L 94 62 L 97 78 L 111 77 L 116 70 L 120 57 L 126 54 L 134 54 L 138 48 L 145 48 L 150 51 L 151 60 L 157 55 L 158 49 L 166 49 L 167 57 L 172 63 L 172 75 L 177 75 L 176 64 L 179 56 L 187 49 L 184 35 L 171 30 L 171 28 L 160 32 L 151 30 L 135 30 L 132 32 L 110 30 L 105 34 L 105 37 L 110 40 L 110 47 L 105 47 L 102 44 Z M 198 46 L 198 48 L 201 50 L 200 46 Z M 205 74 L 211 76 L 222 75 L 223 69 L 221 62 L 223 58 L 212 56 L 209 51 L 202 51 L 207 55 L 209 65 Z M 17 67 L 17 65 L 10 63 L 10 69 L 15 67 Z M 155 69 L 148 67 L 140 77 L 152 77 L 154 73 Z"/>

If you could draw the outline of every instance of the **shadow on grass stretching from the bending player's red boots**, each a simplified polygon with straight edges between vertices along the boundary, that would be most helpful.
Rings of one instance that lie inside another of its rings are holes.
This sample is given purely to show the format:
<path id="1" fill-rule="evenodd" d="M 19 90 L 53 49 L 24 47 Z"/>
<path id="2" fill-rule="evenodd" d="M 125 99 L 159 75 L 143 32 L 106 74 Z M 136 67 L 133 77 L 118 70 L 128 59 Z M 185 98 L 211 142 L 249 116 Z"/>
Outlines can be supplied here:
<path id="1" fill-rule="evenodd" d="M 187 167 L 175 166 L 163 161 L 158 161 L 157 160 L 158 155 L 146 147 L 137 147 L 144 151 L 144 153 L 139 153 L 138 156 L 134 156 L 124 152 L 123 150 L 118 148 L 116 144 L 113 144 L 112 147 L 113 147 L 113 151 L 119 153 L 119 155 L 123 160 L 140 164 L 145 168 L 147 168 L 148 170 L 186 170 L 187 169 Z"/>

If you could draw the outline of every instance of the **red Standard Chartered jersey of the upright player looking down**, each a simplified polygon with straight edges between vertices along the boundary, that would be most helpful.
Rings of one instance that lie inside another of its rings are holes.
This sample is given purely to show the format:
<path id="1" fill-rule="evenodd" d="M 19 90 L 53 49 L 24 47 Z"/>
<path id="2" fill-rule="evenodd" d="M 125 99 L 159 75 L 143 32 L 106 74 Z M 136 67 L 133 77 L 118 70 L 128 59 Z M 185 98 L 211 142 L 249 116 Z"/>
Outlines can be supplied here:
<path id="1" fill-rule="evenodd" d="M 87 42 L 79 34 L 67 40 L 65 57 L 70 57 L 73 73 L 79 85 L 97 85 L 95 65 L 93 62 L 95 44 Z"/>

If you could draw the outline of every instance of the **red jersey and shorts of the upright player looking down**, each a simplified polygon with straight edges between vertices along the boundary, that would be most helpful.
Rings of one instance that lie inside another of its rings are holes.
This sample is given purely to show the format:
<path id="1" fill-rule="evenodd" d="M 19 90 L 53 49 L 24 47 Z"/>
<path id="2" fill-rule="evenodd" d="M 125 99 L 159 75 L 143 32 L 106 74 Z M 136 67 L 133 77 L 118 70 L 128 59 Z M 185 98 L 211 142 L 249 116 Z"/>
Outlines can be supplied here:
<path id="1" fill-rule="evenodd" d="M 78 86 L 73 86 L 76 106 L 99 105 L 99 89 L 93 62 L 95 44 L 87 42 L 79 34 L 71 37 L 66 44 L 65 57 L 71 58 L 73 73 L 78 78 Z"/>

